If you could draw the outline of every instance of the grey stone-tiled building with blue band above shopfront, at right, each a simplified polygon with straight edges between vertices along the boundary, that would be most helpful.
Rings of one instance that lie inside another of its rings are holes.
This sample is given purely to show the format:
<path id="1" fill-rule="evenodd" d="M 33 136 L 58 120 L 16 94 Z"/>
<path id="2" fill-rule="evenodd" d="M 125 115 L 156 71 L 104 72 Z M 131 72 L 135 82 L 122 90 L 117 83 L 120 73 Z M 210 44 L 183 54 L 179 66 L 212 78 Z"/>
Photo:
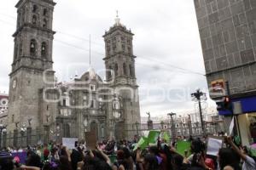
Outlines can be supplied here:
<path id="1" fill-rule="evenodd" d="M 195 0 L 195 12 L 210 94 L 212 82 L 229 82 L 231 102 L 241 105 L 241 141 L 249 144 L 256 122 L 256 1 Z M 230 111 L 218 113 L 230 122 Z"/>

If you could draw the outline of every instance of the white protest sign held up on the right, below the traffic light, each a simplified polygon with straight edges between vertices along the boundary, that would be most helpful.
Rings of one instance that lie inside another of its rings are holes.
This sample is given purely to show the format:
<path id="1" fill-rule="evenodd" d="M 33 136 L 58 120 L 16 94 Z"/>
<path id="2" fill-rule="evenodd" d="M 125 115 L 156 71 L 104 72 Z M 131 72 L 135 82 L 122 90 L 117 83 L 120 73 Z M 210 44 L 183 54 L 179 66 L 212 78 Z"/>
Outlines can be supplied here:
<path id="1" fill-rule="evenodd" d="M 223 139 L 218 137 L 209 137 L 207 142 L 207 155 L 217 156 L 218 150 L 223 145 Z"/>

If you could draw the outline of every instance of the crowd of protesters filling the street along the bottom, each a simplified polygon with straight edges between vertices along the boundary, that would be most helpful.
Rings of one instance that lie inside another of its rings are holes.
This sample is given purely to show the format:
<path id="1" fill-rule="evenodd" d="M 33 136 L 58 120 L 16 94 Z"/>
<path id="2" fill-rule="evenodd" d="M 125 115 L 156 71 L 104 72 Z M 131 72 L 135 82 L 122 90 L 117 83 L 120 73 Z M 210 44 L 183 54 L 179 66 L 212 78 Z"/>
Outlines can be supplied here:
<path id="1" fill-rule="evenodd" d="M 73 150 L 61 144 L 46 144 L 44 148 L 26 148 L 24 165 L 2 152 L 0 170 L 256 170 L 255 157 L 249 156 L 247 148 L 235 144 L 231 137 L 225 138 L 218 156 L 207 156 L 207 144 L 201 139 L 189 140 L 190 156 L 182 156 L 175 143 L 166 144 L 160 139 L 143 150 L 133 150 L 135 141 L 116 143 L 113 139 L 96 144 L 92 150 L 78 143 Z"/>

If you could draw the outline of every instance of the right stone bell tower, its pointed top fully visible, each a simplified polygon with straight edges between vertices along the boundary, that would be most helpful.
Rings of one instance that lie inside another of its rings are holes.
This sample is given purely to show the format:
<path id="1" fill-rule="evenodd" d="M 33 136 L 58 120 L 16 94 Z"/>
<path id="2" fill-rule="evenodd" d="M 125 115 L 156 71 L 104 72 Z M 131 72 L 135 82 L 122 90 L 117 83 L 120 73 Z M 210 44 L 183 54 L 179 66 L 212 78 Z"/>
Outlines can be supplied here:
<path id="1" fill-rule="evenodd" d="M 137 134 L 136 125 L 140 123 L 138 86 L 135 74 L 136 56 L 133 54 L 132 46 L 133 36 L 131 30 L 127 30 L 120 23 L 118 14 L 114 25 L 103 36 L 106 50 L 106 57 L 103 59 L 106 67 L 106 80 L 110 88 L 113 88 L 114 95 L 119 96 L 120 103 L 119 124 L 113 128 L 117 139 L 120 131 L 124 135 L 119 139 L 131 139 Z M 108 107 L 108 118 L 110 120 L 113 117 L 113 112 L 115 112 L 113 110 L 114 106 L 110 104 Z"/>

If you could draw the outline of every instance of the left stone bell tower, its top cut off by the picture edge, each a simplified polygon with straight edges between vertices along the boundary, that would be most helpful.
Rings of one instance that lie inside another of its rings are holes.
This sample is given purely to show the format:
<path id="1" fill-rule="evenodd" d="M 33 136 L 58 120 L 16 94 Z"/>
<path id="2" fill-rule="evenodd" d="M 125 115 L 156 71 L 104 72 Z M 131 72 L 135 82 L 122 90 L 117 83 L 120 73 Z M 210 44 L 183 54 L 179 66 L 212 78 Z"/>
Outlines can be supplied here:
<path id="1" fill-rule="evenodd" d="M 52 71 L 53 0 L 20 0 L 17 8 L 17 26 L 12 70 L 9 74 L 9 125 L 15 123 L 38 127 L 39 91 L 54 82 Z"/>

